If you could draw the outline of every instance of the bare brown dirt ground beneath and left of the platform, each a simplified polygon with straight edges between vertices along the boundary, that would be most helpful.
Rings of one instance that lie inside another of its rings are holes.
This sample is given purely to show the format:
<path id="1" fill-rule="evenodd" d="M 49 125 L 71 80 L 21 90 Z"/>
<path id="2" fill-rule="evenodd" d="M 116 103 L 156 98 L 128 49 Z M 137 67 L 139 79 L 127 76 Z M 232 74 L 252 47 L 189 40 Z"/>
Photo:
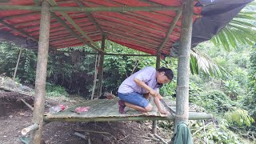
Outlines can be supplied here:
<path id="1" fill-rule="evenodd" d="M 20 101 L 23 98 L 26 102 L 33 104 L 33 98 L 14 92 L 0 90 L 0 143 L 16 144 L 22 143 L 21 130 L 31 125 L 32 111 Z M 78 102 L 64 99 L 47 99 L 46 102 L 56 104 L 58 102 L 66 105 Z M 46 112 L 48 109 L 46 108 Z M 161 143 L 150 137 L 151 121 L 145 122 L 50 122 L 44 126 L 42 138 L 46 144 L 108 144 L 108 143 Z M 74 135 L 74 130 L 86 134 L 86 140 Z M 158 128 L 159 136 L 165 140 L 171 138 L 171 132 Z M 29 135 L 27 135 L 29 136 Z"/>

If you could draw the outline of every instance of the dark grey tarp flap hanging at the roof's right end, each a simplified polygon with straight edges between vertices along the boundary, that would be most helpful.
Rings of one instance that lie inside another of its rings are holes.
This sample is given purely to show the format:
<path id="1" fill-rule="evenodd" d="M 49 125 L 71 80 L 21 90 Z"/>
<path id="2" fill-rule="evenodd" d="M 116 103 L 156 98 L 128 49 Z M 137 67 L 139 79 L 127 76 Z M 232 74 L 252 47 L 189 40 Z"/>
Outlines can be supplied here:
<path id="1" fill-rule="evenodd" d="M 193 24 L 191 48 L 218 34 L 247 3 L 253 0 L 199 0 L 195 6 L 202 6 L 201 18 Z M 170 56 L 178 57 L 178 43 L 170 49 Z"/>

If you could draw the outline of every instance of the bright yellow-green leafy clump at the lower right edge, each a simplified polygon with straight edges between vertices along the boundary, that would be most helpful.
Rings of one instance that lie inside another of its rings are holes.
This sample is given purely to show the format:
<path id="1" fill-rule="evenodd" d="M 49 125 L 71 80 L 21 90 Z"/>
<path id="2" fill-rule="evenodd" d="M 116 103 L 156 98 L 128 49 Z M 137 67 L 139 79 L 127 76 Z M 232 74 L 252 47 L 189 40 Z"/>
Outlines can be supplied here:
<path id="1" fill-rule="evenodd" d="M 225 114 L 227 122 L 233 126 L 250 126 L 254 119 L 250 117 L 246 110 L 238 109 Z"/>

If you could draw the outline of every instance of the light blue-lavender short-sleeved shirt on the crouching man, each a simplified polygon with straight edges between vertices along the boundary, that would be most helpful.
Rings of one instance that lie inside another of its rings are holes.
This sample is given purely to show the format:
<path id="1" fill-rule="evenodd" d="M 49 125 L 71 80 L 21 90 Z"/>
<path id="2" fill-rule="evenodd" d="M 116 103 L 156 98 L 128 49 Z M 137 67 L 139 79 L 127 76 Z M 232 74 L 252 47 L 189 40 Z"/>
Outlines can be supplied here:
<path id="1" fill-rule="evenodd" d="M 126 94 L 131 92 L 137 92 L 138 94 L 147 94 L 148 90 L 143 89 L 134 82 L 134 78 L 138 78 L 142 82 L 145 82 L 147 86 L 150 86 L 154 90 L 158 90 L 158 82 L 156 80 L 157 70 L 152 66 L 148 66 L 138 72 L 132 74 L 126 78 L 118 88 L 118 93 Z"/>

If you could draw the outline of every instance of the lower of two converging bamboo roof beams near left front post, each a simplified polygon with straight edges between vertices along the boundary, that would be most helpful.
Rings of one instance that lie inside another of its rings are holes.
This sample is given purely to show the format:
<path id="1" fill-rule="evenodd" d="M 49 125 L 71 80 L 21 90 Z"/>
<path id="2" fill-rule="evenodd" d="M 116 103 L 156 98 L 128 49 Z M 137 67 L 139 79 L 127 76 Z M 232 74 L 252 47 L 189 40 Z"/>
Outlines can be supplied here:
<path id="1" fill-rule="evenodd" d="M 51 15 L 52 15 L 52 17 L 54 17 L 58 22 L 60 22 L 60 23 L 62 24 L 62 26 L 64 26 L 64 27 L 66 28 L 66 30 L 69 30 L 69 31 L 70 31 L 70 34 L 72 34 L 72 35 L 74 35 L 74 37 L 78 38 L 79 41 L 83 42 L 83 43 L 86 44 L 87 46 L 90 46 L 92 49 L 98 51 L 98 48 L 97 48 L 97 47 L 91 45 L 90 43 L 88 43 L 88 42 L 86 42 L 84 39 L 82 39 L 77 33 L 74 32 L 74 30 L 72 30 L 72 29 L 70 28 L 70 26 L 68 26 L 68 25 L 66 24 L 66 22 L 64 22 L 64 21 L 62 20 L 62 18 L 59 18 L 59 17 L 58 17 L 56 14 L 54 14 L 54 13 L 51 13 Z M 102 50 L 100 50 L 100 51 L 102 51 Z"/>

